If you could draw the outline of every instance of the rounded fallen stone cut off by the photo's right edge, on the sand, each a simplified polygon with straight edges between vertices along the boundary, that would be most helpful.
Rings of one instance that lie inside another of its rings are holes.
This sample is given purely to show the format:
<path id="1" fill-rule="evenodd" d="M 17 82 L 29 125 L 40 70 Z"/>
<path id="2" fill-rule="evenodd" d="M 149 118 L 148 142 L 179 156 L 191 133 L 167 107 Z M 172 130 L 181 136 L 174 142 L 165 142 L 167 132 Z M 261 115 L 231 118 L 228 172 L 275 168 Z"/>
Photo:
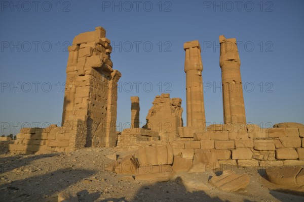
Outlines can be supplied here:
<path id="1" fill-rule="evenodd" d="M 304 185 L 304 172 L 301 167 L 273 167 L 265 170 L 266 177 L 272 183 L 284 186 Z"/>

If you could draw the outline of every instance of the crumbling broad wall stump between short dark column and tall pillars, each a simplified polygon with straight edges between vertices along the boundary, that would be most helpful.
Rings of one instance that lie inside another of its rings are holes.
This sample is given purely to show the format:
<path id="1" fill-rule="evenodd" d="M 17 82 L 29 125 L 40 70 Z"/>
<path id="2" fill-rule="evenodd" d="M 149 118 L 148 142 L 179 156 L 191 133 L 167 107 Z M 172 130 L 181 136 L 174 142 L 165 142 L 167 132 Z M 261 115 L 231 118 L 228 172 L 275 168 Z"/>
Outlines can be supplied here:
<path id="1" fill-rule="evenodd" d="M 166 133 L 168 140 L 174 139 L 178 134 L 178 127 L 183 125 L 181 98 L 171 99 L 169 93 L 162 93 L 155 97 L 152 104 L 143 128 Z"/>

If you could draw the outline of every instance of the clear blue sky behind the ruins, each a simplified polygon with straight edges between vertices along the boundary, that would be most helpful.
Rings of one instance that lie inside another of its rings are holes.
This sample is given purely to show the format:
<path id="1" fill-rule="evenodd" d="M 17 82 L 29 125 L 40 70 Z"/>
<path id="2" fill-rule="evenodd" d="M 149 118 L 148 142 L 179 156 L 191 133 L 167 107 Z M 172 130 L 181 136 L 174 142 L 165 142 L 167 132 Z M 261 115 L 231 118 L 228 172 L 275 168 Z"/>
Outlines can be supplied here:
<path id="1" fill-rule="evenodd" d="M 67 45 L 106 29 L 113 69 L 122 73 L 118 130 L 130 122 L 130 96 L 140 121 L 156 95 L 182 98 L 183 43 L 202 47 L 206 121 L 223 122 L 218 36 L 238 41 L 247 122 L 304 124 L 304 1 L 1 1 L 1 134 L 60 123 Z M 269 126 L 269 125 L 268 125 Z"/>

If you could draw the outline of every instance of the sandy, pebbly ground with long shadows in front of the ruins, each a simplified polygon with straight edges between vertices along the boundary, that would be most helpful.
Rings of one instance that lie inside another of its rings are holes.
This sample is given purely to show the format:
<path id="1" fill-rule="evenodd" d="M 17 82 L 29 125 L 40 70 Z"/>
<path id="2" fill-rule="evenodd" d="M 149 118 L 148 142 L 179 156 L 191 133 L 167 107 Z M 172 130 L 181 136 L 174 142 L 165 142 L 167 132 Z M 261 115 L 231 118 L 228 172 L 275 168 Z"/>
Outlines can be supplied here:
<path id="1" fill-rule="evenodd" d="M 280 187 L 263 178 L 260 168 L 237 168 L 251 176 L 244 190 L 225 192 L 208 183 L 221 170 L 181 173 L 206 184 L 210 190 L 189 192 L 178 181 L 152 182 L 126 179 L 105 171 L 113 160 L 134 151 L 83 148 L 67 154 L 0 155 L 0 201 L 57 201 L 59 192 L 77 193 L 79 201 L 304 201 L 304 187 Z"/>

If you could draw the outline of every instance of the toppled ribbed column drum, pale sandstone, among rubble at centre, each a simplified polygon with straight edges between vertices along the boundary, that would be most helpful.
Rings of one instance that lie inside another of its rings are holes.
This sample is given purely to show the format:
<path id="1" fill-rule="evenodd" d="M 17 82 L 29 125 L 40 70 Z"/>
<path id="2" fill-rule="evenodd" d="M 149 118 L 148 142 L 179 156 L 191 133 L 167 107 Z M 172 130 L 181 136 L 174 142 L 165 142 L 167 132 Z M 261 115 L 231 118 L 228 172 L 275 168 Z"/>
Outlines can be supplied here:
<path id="1" fill-rule="evenodd" d="M 173 148 L 171 145 L 142 147 L 136 151 L 135 156 L 140 167 L 172 164 Z"/>

